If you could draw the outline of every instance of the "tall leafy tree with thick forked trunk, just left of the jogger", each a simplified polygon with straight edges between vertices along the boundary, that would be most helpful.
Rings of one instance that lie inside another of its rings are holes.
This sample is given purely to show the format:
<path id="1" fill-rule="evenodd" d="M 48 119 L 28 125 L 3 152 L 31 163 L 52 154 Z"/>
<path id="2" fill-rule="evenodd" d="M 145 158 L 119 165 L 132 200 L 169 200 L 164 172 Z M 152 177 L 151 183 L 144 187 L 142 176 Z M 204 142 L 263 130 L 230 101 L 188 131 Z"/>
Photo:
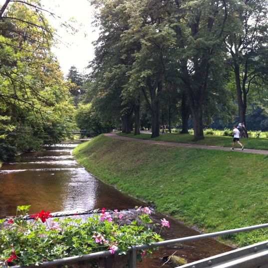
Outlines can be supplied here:
<path id="1" fill-rule="evenodd" d="M 213 70 L 223 69 L 222 44 L 228 18 L 227 2 L 217 0 L 171 1 L 174 4 L 174 29 L 177 36 L 177 62 L 180 78 L 187 90 L 194 119 L 194 140 L 204 139 L 203 116 Z"/>

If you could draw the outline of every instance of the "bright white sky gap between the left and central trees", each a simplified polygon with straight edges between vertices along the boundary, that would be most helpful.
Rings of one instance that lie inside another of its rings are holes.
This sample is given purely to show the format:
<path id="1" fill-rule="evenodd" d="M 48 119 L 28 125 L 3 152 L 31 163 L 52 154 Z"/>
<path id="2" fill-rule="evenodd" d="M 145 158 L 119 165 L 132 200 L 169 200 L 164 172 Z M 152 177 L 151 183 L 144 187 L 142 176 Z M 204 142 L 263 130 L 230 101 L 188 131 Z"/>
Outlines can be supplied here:
<path id="1" fill-rule="evenodd" d="M 60 18 L 47 18 L 51 25 L 57 29 L 58 39 L 60 40 L 52 51 L 56 55 L 61 69 L 66 75 L 72 65 L 79 72 L 88 73 L 85 68 L 88 62 L 93 59 L 94 48 L 92 41 L 98 38 L 97 31 L 91 26 L 93 21 L 93 7 L 90 6 L 88 0 L 42 0 L 44 9 L 52 11 Z M 74 19 L 71 24 L 78 29 L 78 32 L 73 33 L 66 30 L 65 27 L 60 27 L 63 21 Z"/>

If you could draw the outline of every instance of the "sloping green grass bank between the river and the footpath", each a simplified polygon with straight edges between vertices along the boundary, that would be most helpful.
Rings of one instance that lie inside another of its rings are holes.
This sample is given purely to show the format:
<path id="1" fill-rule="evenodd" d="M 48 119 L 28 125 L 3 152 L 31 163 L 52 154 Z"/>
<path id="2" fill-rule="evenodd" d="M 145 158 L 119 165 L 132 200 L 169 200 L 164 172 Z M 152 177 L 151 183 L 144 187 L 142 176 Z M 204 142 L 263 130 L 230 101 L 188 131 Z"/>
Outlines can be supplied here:
<path id="1" fill-rule="evenodd" d="M 163 147 L 102 135 L 79 145 L 73 154 L 101 180 L 207 232 L 268 220 L 267 156 Z M 268 239 L 268 232 L 232 238 L 247 245 Z"/>

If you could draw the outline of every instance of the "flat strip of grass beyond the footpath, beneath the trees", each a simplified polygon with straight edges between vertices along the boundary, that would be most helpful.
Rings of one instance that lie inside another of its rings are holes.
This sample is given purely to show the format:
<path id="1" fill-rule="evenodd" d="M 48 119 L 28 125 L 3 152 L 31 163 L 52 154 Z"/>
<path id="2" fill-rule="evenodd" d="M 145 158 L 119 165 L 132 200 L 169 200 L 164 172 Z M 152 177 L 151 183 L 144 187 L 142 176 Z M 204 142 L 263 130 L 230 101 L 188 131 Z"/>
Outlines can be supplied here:
<path id="1" fill-rule="evenodd" d="M 169 141 L 169 142 L 179 142 L 179 143 L 192 143 L 192 144 L 204 144 L 204 145 L 215 145 L 223 147 L 232 147 L 233 137 L 227 136 L 216 136 L 216 135 L 205 135 L 204 140 L 193 141 L 194 135 L 191 134 L 177 134 L 177 133 L 165 133 L 160 134 L 157 138 L 152 138 L 150 134 L 140 134 L 134 136 L 134 134 L 118 134 L 125 137 L 144 139 L 144 140 L 156 140 L 156 141 Z M 259 149 L 268 150 L 268 139 L 257 139 L 257 138 L 243 138 L 240 141 L 245 144 L 245 148 L 248 149 Z M 236 145 L 237 148 L 240 146 Z"/>

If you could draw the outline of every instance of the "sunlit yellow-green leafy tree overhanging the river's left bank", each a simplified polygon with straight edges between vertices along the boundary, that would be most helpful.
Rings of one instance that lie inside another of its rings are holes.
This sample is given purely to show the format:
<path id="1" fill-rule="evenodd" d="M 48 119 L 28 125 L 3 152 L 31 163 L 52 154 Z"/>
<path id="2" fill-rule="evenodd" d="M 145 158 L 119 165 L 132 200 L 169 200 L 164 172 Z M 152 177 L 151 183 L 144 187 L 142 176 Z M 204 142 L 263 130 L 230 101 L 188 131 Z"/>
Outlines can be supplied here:
<path id="1" fill-rule="evenodd" d="M 74 127 L 69 84 L 50 51 L 54 31 L 39 4 L 9 2 L 1 14 L 0 142 L 18 151 L 58 142 Z"/>

